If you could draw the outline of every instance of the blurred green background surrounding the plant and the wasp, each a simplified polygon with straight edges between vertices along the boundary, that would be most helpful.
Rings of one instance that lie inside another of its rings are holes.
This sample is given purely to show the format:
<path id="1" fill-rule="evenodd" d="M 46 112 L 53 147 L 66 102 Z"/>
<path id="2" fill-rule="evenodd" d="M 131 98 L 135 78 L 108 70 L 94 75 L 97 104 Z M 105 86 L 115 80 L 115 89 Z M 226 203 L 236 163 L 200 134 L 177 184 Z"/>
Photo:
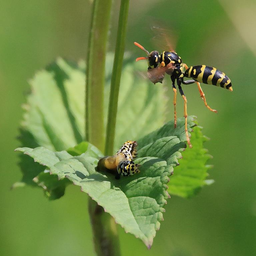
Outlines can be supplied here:
<path id="1" fill-rule="evenodd" d="M 118 227 L 122 255 L 256 255 L 256 3 L 130 2 L 126 50 L 134 58 L 143 56 L 134 41 L 153 50 L 150 26 L 157 20 L 178 35 L 176 50 L 184 62 L 224 71 L 234 91 L 202 85 L 216 115 L 204 106 L 196 85 L 183 86 L 188 113 L 211 138 L 205 147 L 214 157 L 209 178 L 216 182 L 192 199 L 171 197 L 151 250 Z M 114 50 L 119 3 L 113 2 L 109 51 Z M 87 196 L 79 187 L 69 186 L 52 202 L 41 189 L 10 190 L 21 177 L 14 149 L 27 80 L 57 56 L 85 59 L 90 11 L 91 2 L 82 0 L 1 2 L 0 255 L 94 255 Z M 182 107 L 179 97 L 179 116 Z"/>

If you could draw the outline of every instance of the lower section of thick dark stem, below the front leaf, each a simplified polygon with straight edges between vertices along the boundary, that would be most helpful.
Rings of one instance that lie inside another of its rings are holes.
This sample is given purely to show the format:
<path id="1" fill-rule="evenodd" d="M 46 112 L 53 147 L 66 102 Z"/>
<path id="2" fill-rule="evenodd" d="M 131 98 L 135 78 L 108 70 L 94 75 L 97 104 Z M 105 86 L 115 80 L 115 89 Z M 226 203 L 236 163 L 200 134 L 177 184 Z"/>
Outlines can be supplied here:
<path id="1" fill-rule="evenodd" d="M 94 247 L 98 256 L 119 256 L 120 247 L 116 224 L 113 217 L 104 212 L 93 199 L 89 197 L 89 213 L 94 231 Z"/>

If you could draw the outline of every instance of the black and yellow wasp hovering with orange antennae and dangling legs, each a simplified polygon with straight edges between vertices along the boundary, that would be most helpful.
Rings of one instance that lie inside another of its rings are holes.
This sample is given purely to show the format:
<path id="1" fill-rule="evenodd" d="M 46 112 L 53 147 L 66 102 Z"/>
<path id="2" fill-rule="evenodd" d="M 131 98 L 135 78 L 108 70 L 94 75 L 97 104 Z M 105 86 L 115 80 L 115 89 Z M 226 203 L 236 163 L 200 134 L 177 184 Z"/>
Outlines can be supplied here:
<path id="1" fill-rule="evenodd" d="M 171 76 L 172 89 L 174 92 L 173 105 L 174 105 L 174 128 L 177 125 L 177 115 L 176 115 L 176 96 L 177 90 L 175 82 L 178 85 L 179 92 L 184 100 L 184 117 L 185 117 L 185 133 L 186 139 L 189 147 L 191 148 L 190 138 L 188 136 L 187 128 L 187 98 L 182 90 L 181 84 L 193 84 L 197 83 L 197 87 L 200 93 L 200 97 L 203 99 L 205 106 L 212 112 L 217 113 L 218 111 L 212 109 L 206 102 L 205 94 L 200 86 L 200 83 L 212 84 L 215 86 L 220 86 L 233 91 L 231 80 L 225 73 L 220 70 L 206 65 L 191 66 L 190 68 L 182 62 L 181 57 L 173 50 L 163 51 L 159 53 L 158 51 L 147 51 L 142 45 L 134 42 L 136 46 L 146 52 L 147 57 L 139 57 L 136 61 L 147 60 L 148 61 L 148 78 L 154 84 L 160 82 L 162 83 L 164 75 L 168 74 Z M 184 77 L 192 78 L 192 80 L 184 80 Z"/>

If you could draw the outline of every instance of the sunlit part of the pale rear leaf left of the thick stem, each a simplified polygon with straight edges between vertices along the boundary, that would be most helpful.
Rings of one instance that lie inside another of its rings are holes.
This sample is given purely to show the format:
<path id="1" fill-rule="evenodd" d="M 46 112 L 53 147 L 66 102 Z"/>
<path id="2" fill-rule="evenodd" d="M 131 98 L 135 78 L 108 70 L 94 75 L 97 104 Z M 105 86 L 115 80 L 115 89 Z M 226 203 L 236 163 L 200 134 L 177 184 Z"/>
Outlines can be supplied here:
<path id="1" fill-rule="evenodd" d="M 38 145 L 63 150 L 82 141 L 84 81 L 81 70 L 60 58 L 30 80 L 32 93 L 22 127 Z"/>

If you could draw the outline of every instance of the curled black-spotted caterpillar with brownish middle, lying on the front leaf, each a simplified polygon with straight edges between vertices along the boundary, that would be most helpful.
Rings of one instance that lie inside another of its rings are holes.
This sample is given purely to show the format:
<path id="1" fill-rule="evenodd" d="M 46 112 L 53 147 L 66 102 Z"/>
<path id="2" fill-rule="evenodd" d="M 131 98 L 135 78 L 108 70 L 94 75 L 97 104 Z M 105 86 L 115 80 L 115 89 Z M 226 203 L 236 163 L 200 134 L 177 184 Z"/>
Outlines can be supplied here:
<path id="1" fill-rule="evenodd" d="M 139 165 L 133 162 L 137 157 L 136 141 L 126 141 L 113 156 L 106 156 L 99 160 L 97 171 L 107 171 L 115 175 L 118 180 L 120 176 L 131 176 L 139 173 Z"/>

